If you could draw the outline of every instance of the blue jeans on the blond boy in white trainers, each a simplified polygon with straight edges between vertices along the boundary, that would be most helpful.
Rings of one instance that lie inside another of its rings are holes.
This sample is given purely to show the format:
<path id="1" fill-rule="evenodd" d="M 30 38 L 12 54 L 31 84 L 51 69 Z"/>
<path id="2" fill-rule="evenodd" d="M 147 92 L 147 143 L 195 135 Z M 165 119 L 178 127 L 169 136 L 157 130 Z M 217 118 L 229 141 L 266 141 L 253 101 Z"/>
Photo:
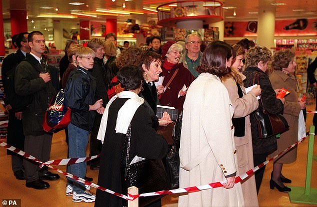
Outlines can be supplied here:
<path id="1" fill-rule="evenodd" d="M 84 158 L 86 157 L 86 148 L 88 144 L 89 132 L 76 127 L 69 123 L 68 128 L 68 158 Z M 78 163 L 67 166 L 67 172 L 84 178 L 86 175 L 86 163 Z M 69 179 L 67 177 L 67 184 L 72 186 L 72 190 L 76 193 L 85 191 L 85 186 L 82 183 Z"/>

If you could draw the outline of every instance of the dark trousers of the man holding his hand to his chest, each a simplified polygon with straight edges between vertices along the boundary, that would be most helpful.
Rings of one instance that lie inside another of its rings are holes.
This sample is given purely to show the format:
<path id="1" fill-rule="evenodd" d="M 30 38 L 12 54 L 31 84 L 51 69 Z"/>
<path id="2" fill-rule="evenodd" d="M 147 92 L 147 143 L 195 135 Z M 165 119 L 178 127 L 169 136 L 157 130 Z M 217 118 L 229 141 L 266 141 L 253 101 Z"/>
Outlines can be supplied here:
<path id="1" fill-rule="evenodd" d="M 27 135 L 24 141 L 24 151 L 42 162 L 49 160 L 52 135 L 44 134 L 39 136 Z M 47 169 L 40 169 L 38 163 L 28 159 L 23 160 L 24 177 L 26 183 L 36 181 L 47 172 Z"/>

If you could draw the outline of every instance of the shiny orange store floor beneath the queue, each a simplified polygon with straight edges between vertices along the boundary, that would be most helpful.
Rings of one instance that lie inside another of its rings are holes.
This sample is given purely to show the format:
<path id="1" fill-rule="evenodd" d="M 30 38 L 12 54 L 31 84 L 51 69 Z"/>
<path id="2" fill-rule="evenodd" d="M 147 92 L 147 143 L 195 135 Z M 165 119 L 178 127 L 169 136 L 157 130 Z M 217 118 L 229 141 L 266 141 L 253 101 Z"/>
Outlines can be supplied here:
<path id="1" fill-rule="evenodd" d="M 307 110 L 314 110 L 314 105 L 308 106 Z M 307 114 L 307 130 L 312 124 L 313 114 Z M 5 140 L 4 140 L 5 141 Z M 306 160 L 307 160 L 308 140 L 298 145 L 296 162 L 283 167 L 283 175 L 292 180 L 291 186 L 304 187 Z M 88 152 L 87 152 L 88 155 Z M 314 143 L 314 155 L 317 155 L 317 139 Z M 50 159 L 62 159 L 67 156 L 67 145 L 65 143 L 64 131 L 54 134 Z M 22 207 L 93 207 L 92 204 L 73 203 L 71 197 L 65 196 L 66 178 L 61 176 L 57 181 L 48 181 L 50 188 L 46 190 L 34 190 L 25 187 L 25 181 L 16 180 L 11 171 L 10 156 L 6 155 L 4 148 L 0 148 L 0 200 L 2 199 L 20 199 Z M 65 166 L 57 166 L 65 171 Z M 258 194 L 258 201 L 261 207 L 303 207 L 315 206 L 307 204 L 294 204 L 289 202 L 288 194 L 269 189 L 270 172 L 272 164 L 266 166 L 262 185 Z M 97 182 L 98 171 L 91 171 L 87 168 L 88 177 Z M 312 163 L 312 181 L 311 188 L 317 188 L 317 162 Z M 95 193 L 95 189 L 91 188 Z M 168 195 L 162 199 L 163 207 L 177 207 L 177 195 Z M 104 205 L 107 206 L 106 204 Z M 4 207 L 4 206 L 3 206 Z"/>

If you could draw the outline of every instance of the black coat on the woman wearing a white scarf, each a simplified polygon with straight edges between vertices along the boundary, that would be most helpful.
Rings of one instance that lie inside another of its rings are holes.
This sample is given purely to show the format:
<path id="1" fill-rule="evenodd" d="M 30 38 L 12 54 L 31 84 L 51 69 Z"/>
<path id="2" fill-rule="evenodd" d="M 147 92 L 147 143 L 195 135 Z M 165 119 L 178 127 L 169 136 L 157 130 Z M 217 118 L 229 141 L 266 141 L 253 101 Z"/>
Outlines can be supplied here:
<path id="1" fill-rule="evenodd" d="M 101 151 L 98 185 L 116 193 L 122 193 L 121 154 L 125 135 L 115 133 L 116 118 L 119 109 L 127 99 L 117 98 L 109 108 L 107 129 Z M 140 106 L 131 120 L 130 156 L 148 159 L 162 159 L 167 154 L 167 143 L 152 128 L 151 119 L 143 106 Z M 121 207 L 122 199 L 97 190 L 95 207 Z"/>

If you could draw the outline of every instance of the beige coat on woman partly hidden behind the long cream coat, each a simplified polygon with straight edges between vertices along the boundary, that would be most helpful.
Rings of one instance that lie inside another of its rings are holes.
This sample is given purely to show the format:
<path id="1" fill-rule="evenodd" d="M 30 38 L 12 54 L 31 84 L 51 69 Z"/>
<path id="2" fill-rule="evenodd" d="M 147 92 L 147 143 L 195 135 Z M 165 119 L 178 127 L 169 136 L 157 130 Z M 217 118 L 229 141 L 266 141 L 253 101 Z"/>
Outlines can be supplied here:
<path id="1" fill-rule="evenodd" d="M 244 75 L 242 75 L 242 77 L 245 79 Z M 228 90 L 234 108 L 233 118 L 245 117 L 244 137 L 234 137 L 238 170 L 239 173 L 242 174 L 253 168 L 253 149 L 249 114 L 257 109 L 258 101 L 253 92 L 245 94 L 243 86 L 241 86 L 243 97 L 239 98 L 236 82 L 233 78 L 226 78 L 222 80 L 222 83 Z M 243 180 L 241 182 L 241 188 L 244 205 L 246 207 L 258 207 L 254 175 Z"/>

